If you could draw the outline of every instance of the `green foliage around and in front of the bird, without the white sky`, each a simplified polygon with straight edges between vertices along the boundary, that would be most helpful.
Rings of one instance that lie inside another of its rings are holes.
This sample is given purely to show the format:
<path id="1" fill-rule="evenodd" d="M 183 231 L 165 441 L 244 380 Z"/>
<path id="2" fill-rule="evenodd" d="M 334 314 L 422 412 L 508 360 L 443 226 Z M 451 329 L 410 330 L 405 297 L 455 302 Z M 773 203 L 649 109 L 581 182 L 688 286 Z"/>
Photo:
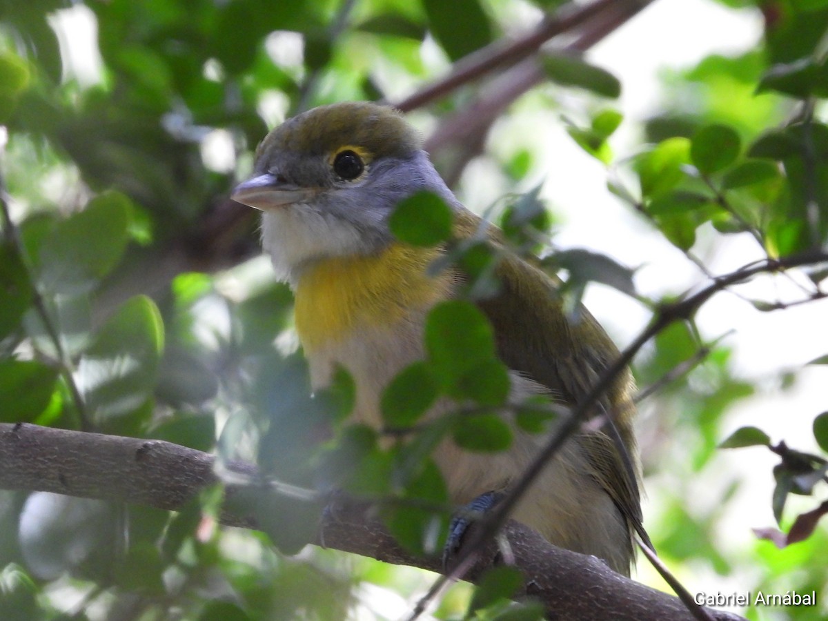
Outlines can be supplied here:
<path id="1" fill-rule="evenodd" d="M 824 249 L 828 2 L 720 3 L 762 12 L 763 41 L 667 76 L 665 100 L 633 156 L 611 147 L 624 119 L 606 99 L 623 84 L 606 70 L 546 55 L 554 84 L 539 87 L 542 104 L 558 106 L 574 143 L 609 166 L 609 190 L 688 258 L 710 235 L 705 243 L 749 236 L 768 258 Z M 513 434 L 492 413 L 508 386 L 490 326 L 467 301 L 430 316 L 428 359 L 383 395 L 387 431 L 405 438 L 416 428 L 411 441 L 351 425 L 353 383 L 339 373 L 328 391 L 310 395 L 290 291 L 272 282 L 267 262 L 250 259 L 255 223 L 226 196 L 249 172 L 267 127 L 286 115 L 392 99 L 511 31 L 515 14 L 539 18 L 539 9 L 562 2 L 512 11 L 515 4 L 0 0 L 0 172 L 11 214 L 0 240 L 0 421 L 170 440 L 215 450 L 220 462 L 256 461 L 284 484 L 383 498 L 383 518 L 404 546 L 439 550 L 449 508 L 431 450 L 450 436 L 466 450 L 496 452 Z M 84 45 L 94 54 L 79 54 Z M 572 87 L 588 93 L 579 100 L 584 118 L 559 96 Z M 462 110 L 474 88 L 448 94 L 435 115 Z M 536 171 L 537 155 L 520 145 L 485 157 L 508 185 Z M 565 280 L 573 312 L 591 282 L 653 312 L 675 301 L 640 296 L 634 270 L 602 254 L 549 252 L 556 218 L 538 191 L 504 200 L 500 223 L 518 252 L 543 253 L 543 267 Z M 395 214 L 395 233 L 424 245 L 449 238 L 445 205 L 415 199 Z M 473 277 L 470 297 L 497 286 L 495 253 L 479 240 L 454 248 L 450 260 Z M 809 277 L 803 296 L 818 291 L 826 272 Z M 760 311 L 778 307 L 752 301 Z M 783 549 L 757 540 L 734 553 L 716 538 L 740 485 L 717 470 L 723 429 L 732 407 L 757 391 L 734 373 L 729 349 L 692 320 L 674 323 L 639 357 L 636 373 L 642 388 L 660 388 L 662 414 L 647 421 L 655 431 L 643 444 L 648 474 L 671 473 L 647 524 L 662 557 L 736 576 L 739 590 L 819 594 L 812 609 L 760 607 L 749 611 L 753 619 L 824 618 L 824 526 Z M 445 395 L 477 409 L 422 421 Z M 546 405 L 527 403 L 518 424 L 546 430 L 554 418 Z M 826 415 L 816 417 L 823 451 L 826 427 Z M 825 458 L 786 452 L 759 429 L 725 443 L 756 445 L 777 448 L 773 507 L 787 530 L 819 504 L 807 494 L 824 498 Z M 769 469 L 762 474 L 771 503 Z M 702 503 L 694 502 L 696 477 L 721 483 Z M 202 501 L 171 515 L 0 493 L 0 618 L 384 618 L 378 602 L 402 611 L 426 588 L 406 568 L 330 551 L 283 554 L 313 536 L 317 504 L 257 508 L 248 499 L 266 535 L 212 527 L 202 513 L 218 501 L 209 493 Z M 474 595 L 464 585 L 450 590 L 436 615 L 537 618 L 531 603 L 506 603 L 516 584 L 501 568 Z"/>

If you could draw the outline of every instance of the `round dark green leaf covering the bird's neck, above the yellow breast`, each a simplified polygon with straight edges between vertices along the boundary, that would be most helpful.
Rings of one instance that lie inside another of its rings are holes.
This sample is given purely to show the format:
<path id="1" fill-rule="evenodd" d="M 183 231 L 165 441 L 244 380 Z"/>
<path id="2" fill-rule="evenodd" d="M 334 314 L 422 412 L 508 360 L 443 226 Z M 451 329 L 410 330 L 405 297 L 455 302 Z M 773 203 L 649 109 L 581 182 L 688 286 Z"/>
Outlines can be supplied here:
<path id="1" fill-rule="evenodd" d="M 451 237 L 453 215 L 440 196 L 417 192 L 401 200 L 388 219 L 394 236 L 414 246 L 436 246 Z"/>

